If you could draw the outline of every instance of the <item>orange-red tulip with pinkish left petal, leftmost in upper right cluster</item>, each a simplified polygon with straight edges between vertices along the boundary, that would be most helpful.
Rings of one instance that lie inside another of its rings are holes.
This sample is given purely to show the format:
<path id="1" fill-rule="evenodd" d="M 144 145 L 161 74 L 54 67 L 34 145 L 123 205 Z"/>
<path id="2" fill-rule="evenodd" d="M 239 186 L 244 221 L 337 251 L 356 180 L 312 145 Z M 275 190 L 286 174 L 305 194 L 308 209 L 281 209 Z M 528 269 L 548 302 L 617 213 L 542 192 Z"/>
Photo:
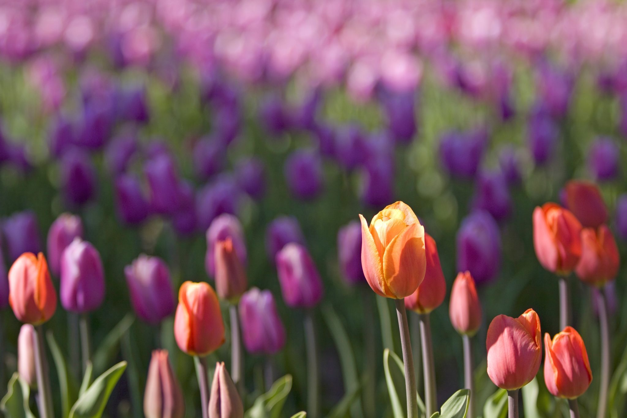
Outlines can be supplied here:
<path id="1" fill-rule="evenodd" d="M 534 210 L 534 248 L 542 266 L 566 276 L 581 257 L 581 224 L 572 212 L 555 203 Z"/>

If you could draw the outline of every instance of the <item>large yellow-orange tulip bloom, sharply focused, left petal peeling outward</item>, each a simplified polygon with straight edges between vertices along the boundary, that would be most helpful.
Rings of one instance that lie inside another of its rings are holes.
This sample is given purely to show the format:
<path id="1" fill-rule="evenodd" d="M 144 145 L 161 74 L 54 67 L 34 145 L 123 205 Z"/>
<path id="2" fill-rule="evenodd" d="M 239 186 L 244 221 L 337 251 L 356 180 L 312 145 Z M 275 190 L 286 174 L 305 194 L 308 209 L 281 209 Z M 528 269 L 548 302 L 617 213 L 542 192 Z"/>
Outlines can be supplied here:
<path id="1" fill-rule="evenodd" d="M 416 291 L 426 269 L 424 227 L 403 202 L 386 206 L 370 227 L 361 219 L 361 264 L 377 295 L 403 299 Z"/>

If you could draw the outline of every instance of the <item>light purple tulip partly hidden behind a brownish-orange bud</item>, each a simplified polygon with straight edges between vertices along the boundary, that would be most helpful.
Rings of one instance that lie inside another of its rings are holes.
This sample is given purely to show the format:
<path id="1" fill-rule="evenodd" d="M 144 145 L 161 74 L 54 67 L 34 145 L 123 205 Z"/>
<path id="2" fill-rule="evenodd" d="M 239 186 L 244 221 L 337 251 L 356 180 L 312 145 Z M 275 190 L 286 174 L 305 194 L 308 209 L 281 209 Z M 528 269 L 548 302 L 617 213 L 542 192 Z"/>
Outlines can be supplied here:
<path id="1" fill-rule="evenodd" d="M 216 217 L 207 229 L 207 253 L 204 258 L 204 267 L 209 277 L 214 277 L 215 271 L 215 246 L 218 241 L 231 239 L 233 248 L 240 262 L 246 265 L 246 242 L 240 221 L 237 217 L 224 213 Z"/>

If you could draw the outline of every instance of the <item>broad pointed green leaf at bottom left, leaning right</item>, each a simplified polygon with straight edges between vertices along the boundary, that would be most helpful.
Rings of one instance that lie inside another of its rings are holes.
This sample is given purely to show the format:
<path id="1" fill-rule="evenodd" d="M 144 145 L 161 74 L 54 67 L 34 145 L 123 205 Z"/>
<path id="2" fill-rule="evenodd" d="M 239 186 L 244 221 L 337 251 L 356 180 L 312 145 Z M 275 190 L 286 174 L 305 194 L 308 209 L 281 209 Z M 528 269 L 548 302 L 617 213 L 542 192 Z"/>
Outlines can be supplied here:
<path id="1" fill-rule="evenodd" d="M 100 418 L 113 387 L 124 373 L 125 368 L 126 362 L 117 363 L 94 380 L 89 389 L 78 398 L 72 407 L 70 418 Z"/>

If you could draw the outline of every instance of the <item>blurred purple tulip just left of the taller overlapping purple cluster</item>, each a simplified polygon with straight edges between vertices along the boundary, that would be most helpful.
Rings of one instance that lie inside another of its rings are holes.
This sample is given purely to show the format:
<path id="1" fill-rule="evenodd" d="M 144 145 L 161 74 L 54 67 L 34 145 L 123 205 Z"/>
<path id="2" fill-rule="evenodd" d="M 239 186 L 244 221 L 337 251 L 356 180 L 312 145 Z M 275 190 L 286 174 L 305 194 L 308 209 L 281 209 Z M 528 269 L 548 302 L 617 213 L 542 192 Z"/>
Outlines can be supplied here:
<path id="1" fill-rule="evenodd" d="M 132 174 L 120 174 L 115 179 L 115 203 L 119 218 L 126 224 L 138 224 L 150 212 L 139 180 Z"/>

